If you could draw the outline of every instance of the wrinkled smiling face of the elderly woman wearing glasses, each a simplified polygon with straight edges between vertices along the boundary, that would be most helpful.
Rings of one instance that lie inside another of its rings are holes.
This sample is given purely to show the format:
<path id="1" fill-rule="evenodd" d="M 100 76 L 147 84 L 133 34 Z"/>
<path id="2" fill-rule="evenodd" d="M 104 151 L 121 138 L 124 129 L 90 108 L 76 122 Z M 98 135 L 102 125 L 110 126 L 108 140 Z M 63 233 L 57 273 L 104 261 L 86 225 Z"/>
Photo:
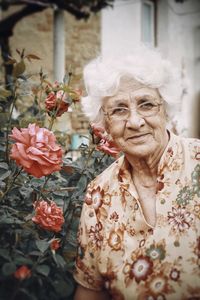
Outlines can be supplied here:
<path id="1" fill-rule="evenodd" d="M 127 156 L 142 158 L 164 151 L 166 117 L 156 89 L 133 79 L 121 80 L 118 92 L 105 98 L 102 108 L 107 132 Z"/>

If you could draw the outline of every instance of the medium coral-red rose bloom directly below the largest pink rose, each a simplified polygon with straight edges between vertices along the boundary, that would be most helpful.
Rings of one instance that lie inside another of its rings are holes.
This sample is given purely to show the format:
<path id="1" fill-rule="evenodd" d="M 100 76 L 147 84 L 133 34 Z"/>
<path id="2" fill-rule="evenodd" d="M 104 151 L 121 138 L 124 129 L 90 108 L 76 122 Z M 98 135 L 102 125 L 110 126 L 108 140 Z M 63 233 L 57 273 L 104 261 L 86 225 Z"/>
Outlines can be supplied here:
<path id="1" fill-rule="evenodd" d="M 64 224 L 63 212 L 53 201 L 36 201 L 33 204 L 35 216 L 32 221 L 43 229 L 59 232 Z"/>

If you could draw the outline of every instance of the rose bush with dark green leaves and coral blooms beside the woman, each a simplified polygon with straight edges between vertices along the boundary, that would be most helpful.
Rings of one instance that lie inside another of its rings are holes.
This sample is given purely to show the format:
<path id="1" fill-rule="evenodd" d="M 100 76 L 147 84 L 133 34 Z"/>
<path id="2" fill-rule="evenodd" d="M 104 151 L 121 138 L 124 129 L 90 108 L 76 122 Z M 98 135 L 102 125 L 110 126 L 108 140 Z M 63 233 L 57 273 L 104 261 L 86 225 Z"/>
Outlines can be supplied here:
<path id="1" fill-rule="evenodd" d="M 112 159 L 91 143 L 80 147 L 76 161 L 64 155 L 62 163 L 56 160 L 60 171 L 47 176 L 33 172 L 33 166 L 43 170 L 48 161 L 50 170 L 49 164 L 55 163 L 54 149 L 42 134 L 51 133 L 52 138 L 60 104 L 67 103 L 62 113 L 69 106 L 76 109 L 80 91 L 72 87 L 72 74 L 54 84 L 42 71 L 32 78 L 26 64 L 39 57 L 17 52 L 18 59 L 9 59 L 12 86 L 0 86 L 0 299 L 69 300 L 75 289 L 76 233 L 86 186 Z M 58 91 L 62 93 L 49 110 L 45 99 Z M 14 118 L 20 99 L 32 103 Z M 53 143 L 57 153 L 61 146 Z"/>

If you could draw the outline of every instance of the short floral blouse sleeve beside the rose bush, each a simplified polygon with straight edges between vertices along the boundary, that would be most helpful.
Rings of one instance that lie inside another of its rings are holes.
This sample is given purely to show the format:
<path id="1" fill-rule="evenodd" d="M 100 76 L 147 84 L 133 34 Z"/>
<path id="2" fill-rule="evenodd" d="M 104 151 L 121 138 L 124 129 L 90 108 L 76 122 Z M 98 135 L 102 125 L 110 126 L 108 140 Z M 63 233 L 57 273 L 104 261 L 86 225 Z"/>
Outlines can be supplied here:
<path id="1" fill-rule="evenodd" d="M 91 197 L 91 196 L 90 196 Z M 88 194 L 86 196 L 88 200 Z M 76 257 L 74 279 L 80 285 L 100 291 L 104 281 L 98 271 L 98 255 L 103 241 L 102 224 L 98 221 L 93 205 L 83 204 L 79 230 L 78 251 Z"/>

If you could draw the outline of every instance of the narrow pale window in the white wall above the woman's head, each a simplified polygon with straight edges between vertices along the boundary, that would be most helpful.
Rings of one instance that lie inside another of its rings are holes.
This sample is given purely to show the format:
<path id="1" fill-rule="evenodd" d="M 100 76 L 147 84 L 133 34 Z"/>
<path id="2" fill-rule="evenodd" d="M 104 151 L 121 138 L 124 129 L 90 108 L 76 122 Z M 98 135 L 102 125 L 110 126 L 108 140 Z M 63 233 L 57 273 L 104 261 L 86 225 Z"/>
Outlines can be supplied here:
<path id="1" fill-rule="evenodd" d="M 155 2 L 142 1 L 142 42 L 150 46 L 156 45 L 155 37 Z"/>

